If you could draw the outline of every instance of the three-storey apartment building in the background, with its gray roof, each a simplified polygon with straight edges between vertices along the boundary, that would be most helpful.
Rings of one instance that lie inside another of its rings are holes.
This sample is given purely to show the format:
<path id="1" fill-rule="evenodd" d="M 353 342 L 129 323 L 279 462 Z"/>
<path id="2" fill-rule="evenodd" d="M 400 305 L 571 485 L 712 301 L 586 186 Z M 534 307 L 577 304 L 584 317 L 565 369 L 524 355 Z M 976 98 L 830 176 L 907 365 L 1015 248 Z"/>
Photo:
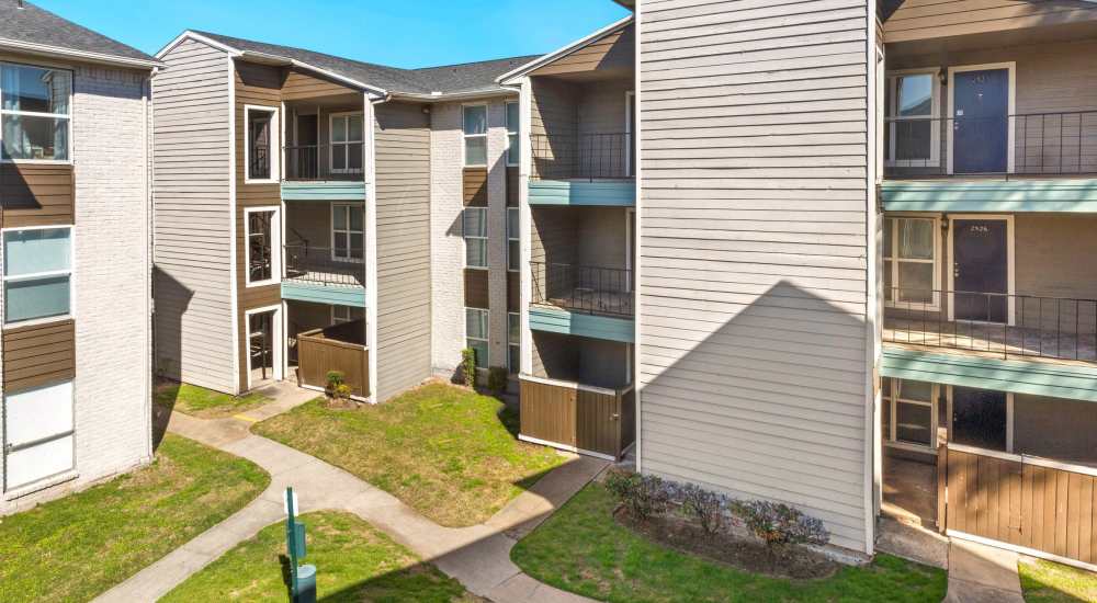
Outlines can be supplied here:
<path id="1" fill-rule="evenodd" d="M 154 81 L 156 363 L 227 392 L 344 374 L 384 401 L 508 366 L 531 57 L 396 69 L 184 32 Z"/>

